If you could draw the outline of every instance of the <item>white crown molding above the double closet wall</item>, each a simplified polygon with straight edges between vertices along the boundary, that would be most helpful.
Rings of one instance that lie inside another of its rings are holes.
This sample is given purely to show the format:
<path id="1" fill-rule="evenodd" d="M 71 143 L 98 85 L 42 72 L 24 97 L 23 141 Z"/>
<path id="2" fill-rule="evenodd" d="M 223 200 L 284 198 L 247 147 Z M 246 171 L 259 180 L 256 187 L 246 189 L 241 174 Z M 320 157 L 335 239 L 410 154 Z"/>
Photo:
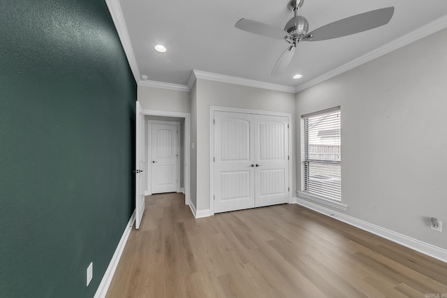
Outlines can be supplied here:
<path id="1" fill-rule="evenodd" d="M 272 83 L 268 83 L 268 82 L 261 82 L 261 81 L 250 80 L 250 79 L 244 79 L 243 77 L 233 77 L 231 75 L 219 75 L 218 73 L 208 73 L 203 70 L 193 69 L 193 73 L 191 74 L 191 77 L 189 78 L 188 84 L 192 85 L 196 79 L 211 80 L 211 81 L 216 81 L 216 82 L 237 84 L 237 85 L 242 85 L 242 86 L 247 86 L 247 87 L 255 87 L 255 88 L 268 89 L 268 90 L 274 90 L 274 91 L 282 91 L 282 92 L 288 92 L 288 93 L 296 92 L 295 87 L 291 87 L 291 86 L 272 84 Z"/>

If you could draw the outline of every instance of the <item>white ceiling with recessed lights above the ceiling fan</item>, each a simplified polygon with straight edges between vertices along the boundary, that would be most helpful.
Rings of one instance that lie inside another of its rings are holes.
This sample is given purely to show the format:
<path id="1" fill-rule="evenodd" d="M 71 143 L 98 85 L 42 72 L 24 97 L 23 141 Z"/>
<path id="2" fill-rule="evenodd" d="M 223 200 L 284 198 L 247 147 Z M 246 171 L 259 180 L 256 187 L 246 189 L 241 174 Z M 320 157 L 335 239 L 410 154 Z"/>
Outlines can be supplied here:
<path id="1" fill-rule="evenodd" d="M 370 31 L 300 43 L 288 69 L 272 77 L 275 62 L 288 46 L 286 41 L 247 33 L 234 25 L 245 17 L 284 28 L 293 17 L 286 7 L 288 0 L 119 0 L 119 3 L 138 75 L 147 75 L 150 81 L 181 85 L 188 84 L 191 71 L 196 69 L 300 87 L 396 38 L 430 26 L 430 22 L 440 17 L 443 17 L 441 27 L 447 27 L 446 0 L 305 0 L 299 15 L 309 21 L 309 31 L 388 6 L 395 6 L 395 14 L 387 25 Z M 165 45 L 168 51 L 156 52 L 156 44 Z M 126 52 L 129 56 L 129 51 Z M 293 80 L 295 73 L 302 74 L 302 79 Z"/>

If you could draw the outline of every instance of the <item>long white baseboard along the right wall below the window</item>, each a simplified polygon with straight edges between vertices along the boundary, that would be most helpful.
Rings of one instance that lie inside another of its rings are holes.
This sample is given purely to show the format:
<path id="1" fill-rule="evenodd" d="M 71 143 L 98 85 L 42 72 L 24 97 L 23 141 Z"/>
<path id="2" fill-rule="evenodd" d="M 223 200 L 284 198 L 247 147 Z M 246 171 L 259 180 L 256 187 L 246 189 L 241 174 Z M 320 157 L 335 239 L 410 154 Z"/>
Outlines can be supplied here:
<path id="1" fill-rule="evenodd" d="M 397 244 L 401 244 L 403 246 L 411 248 L 425 255 L 430 255 L 430 257 L 432 258 L 441 260 L 443 262 L 447 262 L 447 250 L 444 248 L 440 248 L 432 244 L 427 244 L 423 241 L 407 237 L 403 234 L 394 232 L 392 230 L 388 230 L 386 228 L 381 228 L 379 227 L 379 225 L 373 225 L 372 223 L 367 223 L 366 221 L 362 221 L 358 218 L 354 218 L 352 216 L 342 214 L 332 209 L 322 207 L 318 204 L 314 204 L 307 200 L 298 198 L 296 203 L 303 207 L 307 207 L 309 209 L 317 211 L 321 214 L 335 218 L 338 221 L 342 221 L 349 225 L 353 225 L 354 227 L 360 228 L 372 234 L 376 234 L 377 236 L 393 241 Z"/>

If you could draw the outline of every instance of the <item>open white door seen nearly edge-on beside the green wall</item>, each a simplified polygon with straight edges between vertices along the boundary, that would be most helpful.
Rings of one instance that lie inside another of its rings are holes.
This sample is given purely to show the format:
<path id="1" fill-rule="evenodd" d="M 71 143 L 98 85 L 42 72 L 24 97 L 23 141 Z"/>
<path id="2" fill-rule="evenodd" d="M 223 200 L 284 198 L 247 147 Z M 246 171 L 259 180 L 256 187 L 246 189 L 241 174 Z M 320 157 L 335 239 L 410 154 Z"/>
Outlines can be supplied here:
<path id="1" fill-rule="evenodd" d="M 145 212 L 145 114 L 140 102 L 136 102 L 135 117 L 135 228 L 140 228 Z"/>

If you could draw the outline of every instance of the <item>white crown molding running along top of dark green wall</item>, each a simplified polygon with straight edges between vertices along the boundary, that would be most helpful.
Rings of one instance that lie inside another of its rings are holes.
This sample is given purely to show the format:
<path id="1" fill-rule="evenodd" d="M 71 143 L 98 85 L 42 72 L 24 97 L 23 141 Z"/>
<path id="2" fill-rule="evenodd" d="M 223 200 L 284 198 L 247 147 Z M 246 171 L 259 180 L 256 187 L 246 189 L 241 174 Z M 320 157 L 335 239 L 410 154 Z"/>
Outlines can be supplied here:
<path id="1" fill-rule="evenodd" d="M 119 5 L 119 0 L 105 0 L 105 3 L 109 8 L 113 23 L 117 29 L 119 40 L 121 40 L 124 53 L 126 53 L 135 82 L 138 83 L 140 80 L 140 69 L 138 69 L 137 59 L 135 58 L 135 52 L 133 52 L 131 38 L 127 30 L 126 21 L 124 21 L 123 10 L 121 9 L 121 5 Z"/>

